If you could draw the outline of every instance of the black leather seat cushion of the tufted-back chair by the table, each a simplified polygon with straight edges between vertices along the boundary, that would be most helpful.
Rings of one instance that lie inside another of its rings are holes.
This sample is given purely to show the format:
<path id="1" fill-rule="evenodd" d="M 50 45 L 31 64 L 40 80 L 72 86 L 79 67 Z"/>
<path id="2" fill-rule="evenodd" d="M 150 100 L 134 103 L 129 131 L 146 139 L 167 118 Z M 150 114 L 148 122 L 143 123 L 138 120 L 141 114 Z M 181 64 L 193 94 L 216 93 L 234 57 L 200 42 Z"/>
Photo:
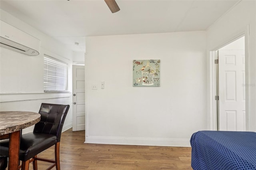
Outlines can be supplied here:
<path id="1" fill-rule="evenodd" d="M 20 160 L 26 161 L 40 152 L 50 148 L 57 142 L 54 134 L 42 134 L 31 132 L 22 134 L 20 137 Z M 9 154 L 9 139 L 0 142 L 1 155 Z"/>

